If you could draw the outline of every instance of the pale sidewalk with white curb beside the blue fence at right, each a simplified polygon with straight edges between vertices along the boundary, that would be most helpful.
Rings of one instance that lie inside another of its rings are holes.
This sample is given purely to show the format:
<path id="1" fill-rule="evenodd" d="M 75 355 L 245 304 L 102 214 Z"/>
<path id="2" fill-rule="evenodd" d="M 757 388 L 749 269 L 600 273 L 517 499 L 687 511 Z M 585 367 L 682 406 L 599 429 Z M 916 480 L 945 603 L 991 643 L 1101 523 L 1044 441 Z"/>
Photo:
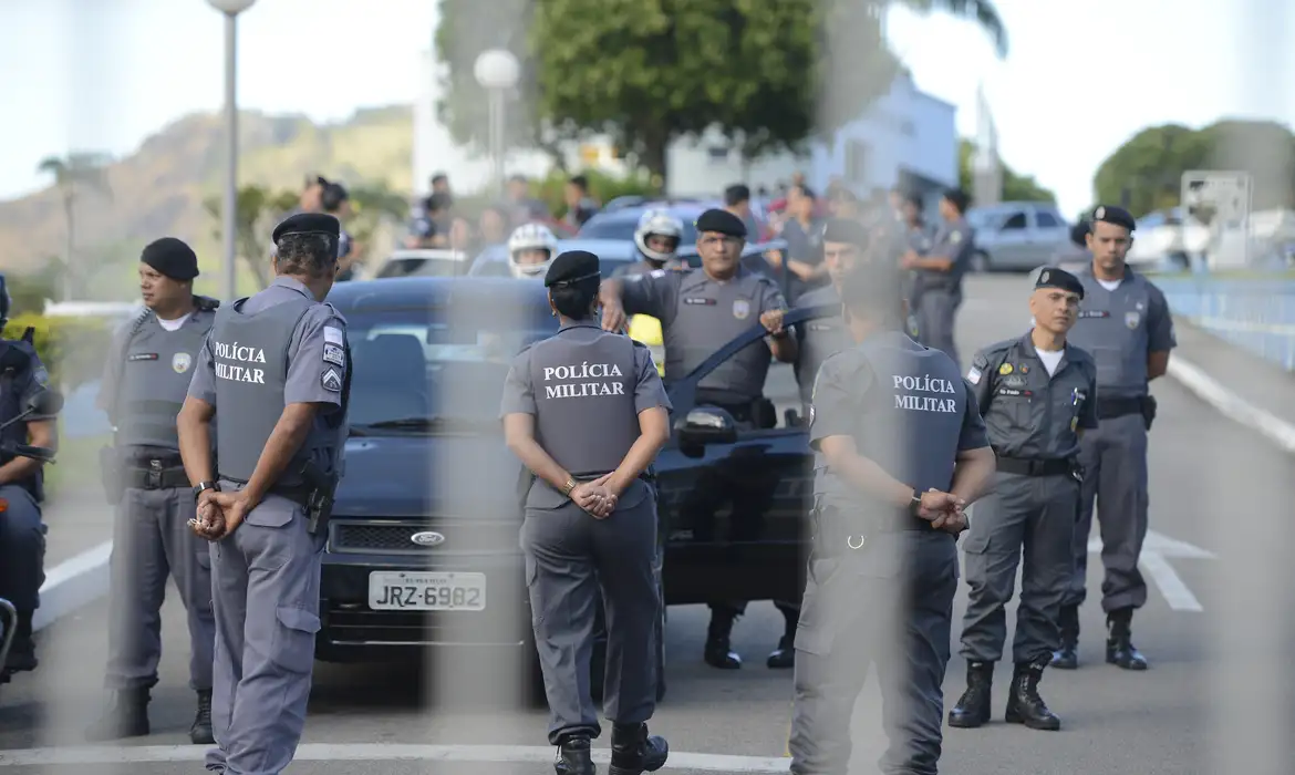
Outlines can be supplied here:
<path id="1" fill-rule="evenodd" d="M 1229 419 L 1295 454 L 1295 373 L 1175 319 L 1169 377 Z"/>

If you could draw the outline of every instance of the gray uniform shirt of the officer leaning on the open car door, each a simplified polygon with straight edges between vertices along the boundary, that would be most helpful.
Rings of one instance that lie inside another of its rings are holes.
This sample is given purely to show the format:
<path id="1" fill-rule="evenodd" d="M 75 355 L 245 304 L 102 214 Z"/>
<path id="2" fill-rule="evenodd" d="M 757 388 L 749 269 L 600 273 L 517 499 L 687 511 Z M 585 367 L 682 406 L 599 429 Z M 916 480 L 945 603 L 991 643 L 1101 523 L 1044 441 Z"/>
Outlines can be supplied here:
<path id="1" fill-rule="evenodd" d="M 786 310 L 777 284 L 738 267 L 730 280 L 714 280 L 704 270 L 657 270 L 625 277 L 622 303 L 629 315 L 660 320 L 666 341 L 666 380 L 688 376 L 721 346 L 760 321 L 769 310 Z M 768 343 L 747 347 L 701 381 L 725 403 L 742 404 L 764 393 L 769 373 Z M 716 399 L 719 400 L 719 399 Z"/>

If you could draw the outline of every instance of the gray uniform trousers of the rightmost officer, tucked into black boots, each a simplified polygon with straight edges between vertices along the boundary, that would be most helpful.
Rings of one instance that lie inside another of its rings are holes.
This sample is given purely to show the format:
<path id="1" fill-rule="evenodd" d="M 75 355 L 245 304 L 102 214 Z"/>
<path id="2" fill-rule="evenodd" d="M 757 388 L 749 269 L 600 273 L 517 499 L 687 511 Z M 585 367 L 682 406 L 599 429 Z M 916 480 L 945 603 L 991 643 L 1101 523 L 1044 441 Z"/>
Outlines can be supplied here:
<path id="1" fill-rule="evenodd" d="M 1146 581 L 1138 570 L 1147 529 L 1146 424 L 1142 415 L 1105 419 L 1080 439 L 1079 461 L 1084 487 L 1075 522 L 1074 557 L 1066 605 L 1087 597 L 1088 534 L 1093 526 L 1093 499 L 1102 534 L 1102 610 L 1141 608 L 1146 604 Z"/>

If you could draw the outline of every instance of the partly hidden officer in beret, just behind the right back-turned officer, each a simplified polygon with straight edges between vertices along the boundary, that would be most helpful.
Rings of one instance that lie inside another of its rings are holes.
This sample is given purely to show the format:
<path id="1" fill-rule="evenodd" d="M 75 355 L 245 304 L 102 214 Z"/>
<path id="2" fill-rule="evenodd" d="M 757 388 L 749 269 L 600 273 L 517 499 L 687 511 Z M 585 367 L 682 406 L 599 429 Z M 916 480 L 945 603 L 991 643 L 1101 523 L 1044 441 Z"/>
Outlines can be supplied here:
<path id="1" fill-rule="evenodd" d="M 868 250 L 868 229 L 861 223 L 844 218 L 829 220 L 822 229 L 822 263 L 828 267 L 831 284 L 807 290 L 800 294 L 796 303 L 802 307 L 839 307 L 840 279 L 865 257 Z M 800 340 L 795 364 L 796 385 L 800 388 L 800 402 L 808 421 L 809 397 L 813 393 L 813 378 L 818 373 L 818 367 L 829 355 L 848 347 L 851 342 L 839 315 L 803 323 L 796 327 L 796 336 Z"/>

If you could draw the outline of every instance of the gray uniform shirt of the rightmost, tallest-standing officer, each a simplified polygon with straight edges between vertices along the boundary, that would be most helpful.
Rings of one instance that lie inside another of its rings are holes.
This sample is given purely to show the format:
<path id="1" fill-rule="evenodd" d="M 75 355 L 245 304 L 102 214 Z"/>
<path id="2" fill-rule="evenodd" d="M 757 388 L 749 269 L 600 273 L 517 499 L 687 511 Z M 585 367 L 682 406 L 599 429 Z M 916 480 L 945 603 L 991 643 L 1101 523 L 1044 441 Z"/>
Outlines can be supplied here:
<path id="1" fill-rule="evenodd" d="M 1102 398 L 1146 395 L 1147 355 L 1168 353 L 1177 346 L 1164 294 L 1127 267 L 1115 290 L 1106 290 L 1097 281 L 1092 264 L 1076 276 L 1084 285 L 1084 301 L 1079 303 L 1079 320 L 1067 338 L 1097 362 Z"/>

